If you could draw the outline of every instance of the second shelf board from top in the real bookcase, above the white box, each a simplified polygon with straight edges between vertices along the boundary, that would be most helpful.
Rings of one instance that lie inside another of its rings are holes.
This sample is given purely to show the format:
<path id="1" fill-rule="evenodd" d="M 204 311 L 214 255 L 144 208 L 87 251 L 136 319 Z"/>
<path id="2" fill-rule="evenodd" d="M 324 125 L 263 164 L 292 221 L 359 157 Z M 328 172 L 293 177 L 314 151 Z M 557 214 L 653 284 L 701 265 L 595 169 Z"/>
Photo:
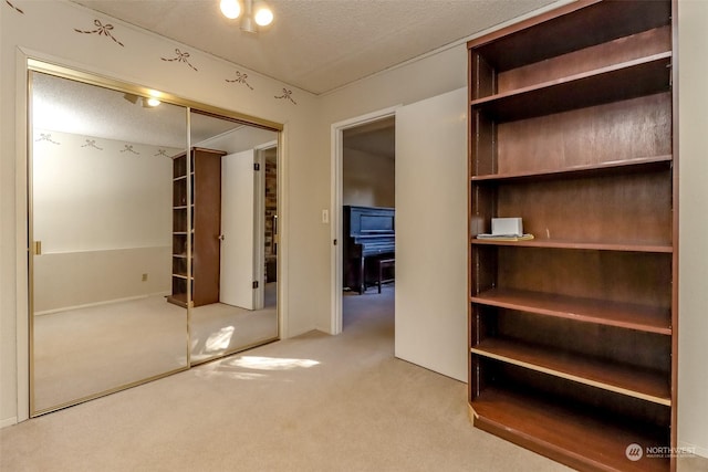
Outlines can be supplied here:
<path id="1" fill-rule="evenodd" d="M 569 177 L 593 177 L 602 175 L 616 175 L 620 171 L 637 172 L 650 169 L 659 169 L 670 165 L 671 155 L 639 157 L 634 159 L 615 160 L 611 162 L 600 162 L 593 165 L 574 166 L 562 169 L 537 170 L 530 172 L 491 174 L 485 176 L 472 176 L 472 183 L 483 182 L 507 182 Z"/>

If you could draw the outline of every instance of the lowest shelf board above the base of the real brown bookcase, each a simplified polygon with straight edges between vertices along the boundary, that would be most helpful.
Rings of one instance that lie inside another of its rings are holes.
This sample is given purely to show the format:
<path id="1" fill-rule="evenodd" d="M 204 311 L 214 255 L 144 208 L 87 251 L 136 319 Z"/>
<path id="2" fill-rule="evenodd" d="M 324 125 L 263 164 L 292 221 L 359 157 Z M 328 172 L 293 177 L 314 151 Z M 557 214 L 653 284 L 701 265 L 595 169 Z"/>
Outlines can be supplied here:
<path id="1" fill-rule="evenodd" d="M 470 352 L 479 356 L 670 407 L 670 378 L 658 371 L 597 360 L 503 338 L 488 338 Z"/>

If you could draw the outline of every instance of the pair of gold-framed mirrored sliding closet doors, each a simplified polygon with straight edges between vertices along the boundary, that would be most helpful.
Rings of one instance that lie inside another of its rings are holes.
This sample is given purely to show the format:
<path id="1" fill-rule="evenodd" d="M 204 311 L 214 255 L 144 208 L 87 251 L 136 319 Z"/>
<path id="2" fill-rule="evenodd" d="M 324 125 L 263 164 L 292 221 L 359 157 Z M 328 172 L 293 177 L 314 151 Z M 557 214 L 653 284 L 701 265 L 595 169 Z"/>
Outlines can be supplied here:
<path id="1" fill-rule="evenodd" d="M 31 416 L 279 336 L 279 128 L 65 71 L 29 71 Z"/>

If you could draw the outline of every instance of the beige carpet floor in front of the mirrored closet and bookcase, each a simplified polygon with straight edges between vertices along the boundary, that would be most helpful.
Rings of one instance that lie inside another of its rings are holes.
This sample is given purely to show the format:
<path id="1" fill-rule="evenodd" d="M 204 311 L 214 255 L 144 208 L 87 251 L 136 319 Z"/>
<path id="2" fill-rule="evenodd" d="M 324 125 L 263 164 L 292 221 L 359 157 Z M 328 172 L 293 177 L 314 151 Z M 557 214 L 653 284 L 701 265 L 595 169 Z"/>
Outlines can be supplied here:
<path id="1" fill-rule="evenodd" d="M 568 470 L 472 428 L 465 384 L 394 358 L 392 289 L 344 296 L 340 336 L 308 333 L 0 430 L 0 470 Z"/>

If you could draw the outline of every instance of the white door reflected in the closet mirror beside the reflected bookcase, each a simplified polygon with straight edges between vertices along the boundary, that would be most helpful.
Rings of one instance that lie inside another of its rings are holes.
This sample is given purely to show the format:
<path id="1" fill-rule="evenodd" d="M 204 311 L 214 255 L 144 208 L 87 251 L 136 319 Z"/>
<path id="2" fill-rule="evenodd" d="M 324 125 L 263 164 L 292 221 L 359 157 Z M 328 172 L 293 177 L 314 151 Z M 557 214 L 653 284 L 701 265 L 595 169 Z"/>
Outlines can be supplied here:
<path id="1" fill-rule="evenodd" d="M 244 150 L 221 158 L 221 303 L 257 310 L 256 153 Z"/>

